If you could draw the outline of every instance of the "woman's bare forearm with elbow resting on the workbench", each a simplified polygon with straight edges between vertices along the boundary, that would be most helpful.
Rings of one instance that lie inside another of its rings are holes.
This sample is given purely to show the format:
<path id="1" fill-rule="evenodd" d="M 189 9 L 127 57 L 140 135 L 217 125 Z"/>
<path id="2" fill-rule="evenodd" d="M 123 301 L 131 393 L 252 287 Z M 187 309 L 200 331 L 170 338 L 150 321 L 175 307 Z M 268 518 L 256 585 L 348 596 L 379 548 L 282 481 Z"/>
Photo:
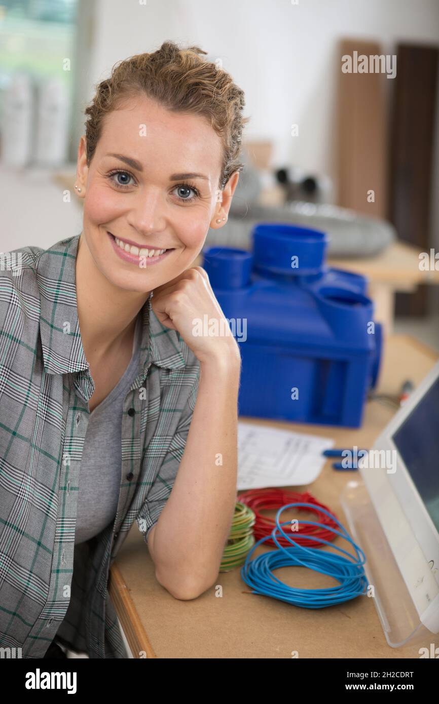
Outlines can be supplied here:
<path id="1" fill-rule="evenodd" d="M 159 582 L 193 596 L 218 574 L 233 519 L 240 360 L 223 356 L 200 370 L 185 452 L 151 546 Z"/>

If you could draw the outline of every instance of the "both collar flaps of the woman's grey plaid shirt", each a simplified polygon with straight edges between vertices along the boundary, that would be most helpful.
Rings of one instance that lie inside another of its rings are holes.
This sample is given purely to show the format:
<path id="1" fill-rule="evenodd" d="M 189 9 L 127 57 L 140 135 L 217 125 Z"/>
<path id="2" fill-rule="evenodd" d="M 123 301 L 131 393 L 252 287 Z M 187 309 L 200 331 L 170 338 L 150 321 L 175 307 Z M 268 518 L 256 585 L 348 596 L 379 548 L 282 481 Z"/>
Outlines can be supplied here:
<path id="1" fill-rule="evenodd" d="M 80 235 L 63 239 L 43 251 L 37 260 L 40 298 L 40 336 L 44 368 L 49 374 L 86 371 L 76 298 L 76 255 Z M 140 375 L 147 375 L 149 363 L 166 369 L 185 367 L 182 338 L 176 330 L 164 327 L 152 310 L 154 292 L 144 303 Z M 91 379 L 91 375 L 90 375 Z"/>

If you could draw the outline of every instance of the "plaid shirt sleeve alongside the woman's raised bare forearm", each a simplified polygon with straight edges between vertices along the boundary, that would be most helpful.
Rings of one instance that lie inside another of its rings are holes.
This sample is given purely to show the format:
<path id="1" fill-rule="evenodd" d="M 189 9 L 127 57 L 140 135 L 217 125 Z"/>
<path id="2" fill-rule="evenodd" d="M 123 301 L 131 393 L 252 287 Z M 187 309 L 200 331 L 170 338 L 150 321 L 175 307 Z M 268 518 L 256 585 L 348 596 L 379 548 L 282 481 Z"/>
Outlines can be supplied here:
<path id="1" fill-rule="evenodd" d="M 148 496 L 145 499 L 140 512 L 137 514 L 137 525 L 140 532 L 144 534 L 144 539 L 148 542 L 149 533 L 159 520 L 159 516 L 168 501 L 171 494 L 175 477 L 177 476 L 178 467 L 185 452 L 187 434 L 192 422 L 195 402 L 197 401 L 197 392 L 199 386 L 200 370 L 198 368 L 197 378 L 194 386 L 187 397 L 185 408 L 180 416 L 177 429 L 171 440 L 168 452 L 166 453 L 163 463 L 160 467 L 159 474 L 149 490 Z"/>

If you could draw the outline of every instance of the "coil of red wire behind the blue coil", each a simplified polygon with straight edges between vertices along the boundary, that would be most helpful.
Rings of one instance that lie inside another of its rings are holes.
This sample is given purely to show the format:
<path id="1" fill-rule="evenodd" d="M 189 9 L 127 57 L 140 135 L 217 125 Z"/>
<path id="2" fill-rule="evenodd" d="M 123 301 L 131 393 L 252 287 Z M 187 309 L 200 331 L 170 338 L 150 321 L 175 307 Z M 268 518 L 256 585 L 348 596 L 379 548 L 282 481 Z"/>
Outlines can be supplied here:
<path id="1" fill-rule="evenodd" d="M 330 509 L 326 505 L 317 501 L 317 499 L 314 498 L 314 496 L 312 496 L 311 494 L 309 494 L 308 491 L 306 491 L 304 494 L 299 494 L 296 491 L 288 491 L 287 489 L 279 488 L 249 489 L 248 491 L 243 491 L 242 494 L 237 497 L 237 501 L 245 503 L 245 505 L 247 505 L 249 508 L 252 509 L 252 511 L 254 511 L 254 515 L 256 516 L 256 522 L 254 523 L 253 534 L 256 541 L 270 535 L 273 531 L 273 528 L 276 526 L 276 521 L 273 518 L 261 515 L 260 511 L 268 509 L 278 509 L 281 506 L 284 506 L 286 503 L 312 503 L 316 507 L 316 510 L 315 512 L 313 510 L 313 513 L 317 514 L 317 521 L 319 523 L 328 525 L 331 528 L 338 528 L 338 524 L 336 524 L 332 519 L 330 519 L 330 517 L 328 517 L 326 513 L 323 513 L 323 511 L 319 511 L 319 506 L 321 508 L 324 508 L 326 511 L 329 511 L 329 513 L 333 513 L 333 511 L 330 511 Z M 311 510 L 312 509 L 309 508 L 307 509 L 307 512 Z M 335 513 L 333 513 L 333 515 L 335 516 L 335 518 L 337 518 Z M 295 542 L 297 544 L 303 545 L 307 548 L 319 548 L 324 544 L 321 542 L 321 539 L 335 539 L 335 533 L 331 532 L 330 530 L 325 530 L 320 527 L 310 526 L 307 524 L 302 525 L 300 523 L 300 519 L 297 518 L 297 520 L 299 521 L 299 529 L 294 536 Z M 309 540 L 305 538 L 301 540 L 300 534 L 314 536 L 316 539 Z M 284 547 L 289 547 L 291 545 L 291 543 L 289 543 L 285 538 L 282 537 L 278 538 L 278 542 Z M 264 545 L 273 545 L 277 547 L 273 541 L 273 538 L 265 541 Z"/>

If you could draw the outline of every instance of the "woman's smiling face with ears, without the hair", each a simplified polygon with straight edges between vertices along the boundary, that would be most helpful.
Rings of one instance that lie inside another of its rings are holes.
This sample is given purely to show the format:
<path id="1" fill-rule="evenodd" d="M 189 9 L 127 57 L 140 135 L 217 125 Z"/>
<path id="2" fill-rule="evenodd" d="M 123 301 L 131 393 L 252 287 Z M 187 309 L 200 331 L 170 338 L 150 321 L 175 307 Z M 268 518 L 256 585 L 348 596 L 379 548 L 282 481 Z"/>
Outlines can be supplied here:
<path id="1" fill-rule="evenodd" d="M 216 219 L 227 215 L 237 185 L 236 172 L 218 197 L 222 156 L 205 118 L 171 113 L 146 96 L 106 115 L 89 168 L 81 138 L 83 237 L 109 282 L 149 292 L 190 267 L 209 227 L 221 227 Z M 139 251 L 127 252 L 125 243 Z M 169 251 L 157 256 L 162 249 Z"/>

